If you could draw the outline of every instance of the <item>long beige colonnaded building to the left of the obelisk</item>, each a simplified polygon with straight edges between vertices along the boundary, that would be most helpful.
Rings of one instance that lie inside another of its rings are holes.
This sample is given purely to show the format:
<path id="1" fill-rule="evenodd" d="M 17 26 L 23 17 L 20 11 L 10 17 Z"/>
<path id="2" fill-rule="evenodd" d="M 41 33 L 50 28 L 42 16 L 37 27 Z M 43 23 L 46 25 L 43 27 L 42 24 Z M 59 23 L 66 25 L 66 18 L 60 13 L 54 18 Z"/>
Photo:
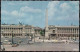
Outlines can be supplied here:
<path id="1" fill-rule="evenodd" d="M 5 37 L 25 37 L 26 35 L 34 34 L 33 26 L 31 25 L 1 25 L 1 35 Z"/>

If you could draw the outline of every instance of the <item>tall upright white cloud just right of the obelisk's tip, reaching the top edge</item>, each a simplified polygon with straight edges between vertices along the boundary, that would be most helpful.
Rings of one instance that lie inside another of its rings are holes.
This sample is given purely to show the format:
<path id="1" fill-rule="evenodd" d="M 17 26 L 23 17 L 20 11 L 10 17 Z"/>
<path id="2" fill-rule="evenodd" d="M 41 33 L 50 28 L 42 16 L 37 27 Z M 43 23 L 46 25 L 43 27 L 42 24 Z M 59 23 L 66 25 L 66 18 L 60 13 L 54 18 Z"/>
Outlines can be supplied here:
<path id="1" fill-rule="evenodd" d="M 50 17 L 50 19 L 52 18 L 52 16 L 55 15 L 55 12 L 57 11 L 56 6 L 59 4 L 59 1 L 52 1 L 48 3 L 48 16 Z"/>

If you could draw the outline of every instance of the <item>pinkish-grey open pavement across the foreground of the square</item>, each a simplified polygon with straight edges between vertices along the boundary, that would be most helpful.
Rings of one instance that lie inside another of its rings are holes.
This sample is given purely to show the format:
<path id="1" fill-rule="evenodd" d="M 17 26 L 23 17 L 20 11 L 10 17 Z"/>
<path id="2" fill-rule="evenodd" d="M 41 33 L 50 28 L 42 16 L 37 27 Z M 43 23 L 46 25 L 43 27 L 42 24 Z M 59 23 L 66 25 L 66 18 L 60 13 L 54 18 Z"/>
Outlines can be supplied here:
<path id="1" fill-rule="evenodd" d="M 18 47 L 11 47 L 11 45 L 4 45 L 6 51 L 79 51 L 79 44 L 77 43 L 34 43 L 19 45 Z"/>

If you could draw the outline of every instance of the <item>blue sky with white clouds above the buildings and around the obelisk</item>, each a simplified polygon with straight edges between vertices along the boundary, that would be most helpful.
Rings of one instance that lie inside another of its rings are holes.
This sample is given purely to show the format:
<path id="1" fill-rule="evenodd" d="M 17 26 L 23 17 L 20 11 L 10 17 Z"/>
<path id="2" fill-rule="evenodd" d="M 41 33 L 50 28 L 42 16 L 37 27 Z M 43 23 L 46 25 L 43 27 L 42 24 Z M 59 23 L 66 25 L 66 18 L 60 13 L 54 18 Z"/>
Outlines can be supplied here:
<path id="1" fill-rule="evenodd" d="M 1 1 L 1 23 L 45 27 L 79 25 L 79 1 Z"/>

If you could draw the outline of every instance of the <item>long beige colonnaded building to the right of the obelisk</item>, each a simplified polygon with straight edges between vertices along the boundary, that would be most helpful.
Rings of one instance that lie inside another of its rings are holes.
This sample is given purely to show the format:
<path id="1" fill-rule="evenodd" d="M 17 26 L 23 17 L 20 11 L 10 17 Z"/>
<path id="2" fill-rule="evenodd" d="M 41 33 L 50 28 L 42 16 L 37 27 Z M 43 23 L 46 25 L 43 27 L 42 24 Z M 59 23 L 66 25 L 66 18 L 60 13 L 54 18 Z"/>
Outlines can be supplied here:
<path id="1" fill-rule="evenodd" d="M 79 26 L 53 26 L 48 27 L 48 35 L 54 38 L 78 38 Z"/>

